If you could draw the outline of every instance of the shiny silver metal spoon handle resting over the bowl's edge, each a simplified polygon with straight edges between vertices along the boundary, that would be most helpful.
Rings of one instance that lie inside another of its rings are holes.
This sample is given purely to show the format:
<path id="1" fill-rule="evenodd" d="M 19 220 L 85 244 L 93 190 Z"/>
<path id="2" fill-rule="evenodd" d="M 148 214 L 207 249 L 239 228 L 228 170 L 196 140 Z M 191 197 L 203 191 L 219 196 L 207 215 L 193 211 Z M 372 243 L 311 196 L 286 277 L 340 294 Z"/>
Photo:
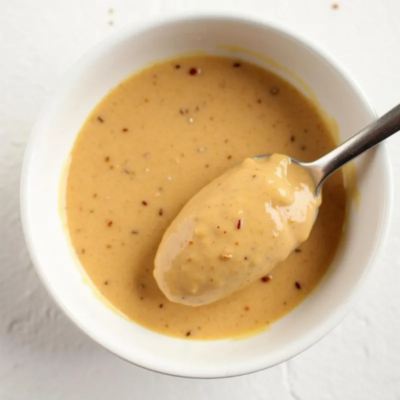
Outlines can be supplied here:
<path id="1" fill-rule="evenodd" d="M 295 158 L 291 158 L 291 160 L 308 169 L 315 183 L 315 195 L 318 196 L 323 182 L 330 174 L 358 157 L 364 151 L 387 139 L 398 130 L 400 130 L 400 104 L 397 104 L 390 111 L 387 111 L 384 115 L 317 160 L 312 162 L 301 162 Z M 253 158 L 266 158 L 269 155 L 263 154 Z"/>

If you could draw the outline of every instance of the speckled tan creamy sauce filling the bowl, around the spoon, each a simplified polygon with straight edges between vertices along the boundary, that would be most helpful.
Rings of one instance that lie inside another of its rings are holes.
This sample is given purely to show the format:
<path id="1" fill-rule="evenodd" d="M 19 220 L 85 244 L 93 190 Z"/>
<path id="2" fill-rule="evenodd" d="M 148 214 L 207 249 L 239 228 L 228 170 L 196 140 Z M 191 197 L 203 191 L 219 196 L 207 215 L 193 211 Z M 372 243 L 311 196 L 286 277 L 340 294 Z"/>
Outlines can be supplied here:
<path id="1" fill-rule="evenodd" d="M 149 329 L 193 339 L 255 332 L 298 305 L 328 268 L 346 207 L 341 172 L 324 184 L 309 238 L 271 276 L 221 300 L 168 301 L 153 277 L 157 247 L 183 205 L 244 158 L 310 161 L 334 146 L 315 106 L 271 72 L 212 56 L 154 65 L 102 99 L 76 138 L 66 182 L 71 243 L 100 293 Z"/>

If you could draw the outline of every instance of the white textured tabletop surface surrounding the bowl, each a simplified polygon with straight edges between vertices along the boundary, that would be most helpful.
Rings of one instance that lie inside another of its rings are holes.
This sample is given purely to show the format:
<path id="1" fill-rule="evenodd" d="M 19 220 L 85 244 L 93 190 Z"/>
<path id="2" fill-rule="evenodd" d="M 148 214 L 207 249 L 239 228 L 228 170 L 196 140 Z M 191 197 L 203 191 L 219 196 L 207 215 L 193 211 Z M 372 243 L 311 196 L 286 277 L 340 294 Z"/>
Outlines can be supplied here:
<path id="1" fill-rule="evenodd" d="M 400 399 L 400 134 L 387 143 L 390 234 L 357 306 L 312 348 L 252 375 L 163 376 L 103 350 L 47 296 L 19 220 L 21 158 L 50 90 L 94 43 L 149 15 L 218 7 L 281 21 L 330 52 L 379 113 L 400 102 L 400 1 L 337 1 L 0 0 L 0 400 Z"/>

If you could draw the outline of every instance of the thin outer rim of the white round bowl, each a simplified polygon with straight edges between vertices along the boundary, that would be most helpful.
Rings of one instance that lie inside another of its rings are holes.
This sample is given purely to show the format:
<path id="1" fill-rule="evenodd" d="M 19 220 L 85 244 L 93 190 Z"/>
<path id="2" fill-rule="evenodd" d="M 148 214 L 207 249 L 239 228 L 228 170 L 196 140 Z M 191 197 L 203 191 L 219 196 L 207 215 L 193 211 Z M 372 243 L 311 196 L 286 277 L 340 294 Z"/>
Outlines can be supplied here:
<path id="1" fill-rule="evenodd" d="M 318 342 L 322 339 L 327 333 L 329 333 L 349 312 L 349 310 L 353 307 L 356 301 L 356 295 L 359 292 L 360 288 L 365 283 L 368 275 L 372 270 L 373 263 L 376 261 L 377 256 L 380 254 L 381 249 L 383 248 L 383 244 L 385 238 L 387 236 L 390 215 L 392 211 L 392 203 L 393 203 L 393 190 L 392 190 L 392 171 L 391 165 L 389 162 L 389 156 L 385 143 L 380 143 L 377 146 L 378 151 L 381 153 L 382 158 L 382 173 L 385 178 L 385 193 L 384 193 L 384 201 L 382 205 L 382 220 L 380 222 L 380 226 L 378 228 L 378 232 L 380 233 L 374 248 L 371 251 L 371 255 L 369 258 L 369 262 L 365 265 L 362 276 L 358 280 L 357 284 L 353 287 L 350 292 L 347 300 L 342 304 L 336 306 L 335 310 L 331 312 L 324 320 L 319 322 L 312 330 L 310 330 L 307 334 L 305 334 L 302 338 L 297 339 L 295 343 L 295 349 L 291 349 L 292 351 L 287 351 L 284 356 L 278 361 L 274 363 L 268 363 L 266 359 L 262 360 L 262 365 L 259 363 L 257 365 L 248 365 L 247 363 L 243 363 L 242 366 L 234 367 L 229 369 L 229 373 L 224 373 L 223 367 L 220 368 L 220 373 L 208 373 L 206 370 L 202 371 L 190 371 L 185 372 L 185 368 L 180 368 L 180 370 L 174 370 L 173 368 L 162 368 L 154 365 L 152 363 L 137 363 L 137 361 L 132 359 L 127 359 L 126 356 L 121 353 L 113 343 L 106 341 L 103 339 L 101 334 L 98 334 L 96 331 L 89 330 L 80 320 L 76 317 L 72 312 L 69 311 L 66 304 L 64 304 L 57 292 L 53 289 L 51 282 L 47 279 L 46 273 L 39 263 L 39 257 L 36 253 L 36 249 L 33 245 L 33 237 L 34 231 L 32 229 L 32 225 L 29 223 L 29 211 L 28 211 L 28 198 L 29 198 L 29 169 L 30 165 L 33 161 L 34 148 L 36 145 L 36 141 L 40 135 L 41 127 L 43 122 L 46 120 L 48 115 L 54 110 L 53 104 L 56 103 L 54 99 L 61 98 L 64 95 L 64 92 L 69 87 L 69 85 L 75 80 L 76 75 L 81 69 L 87 68 L 91 63 L 93 58 L 96 58 L 98 54 L 100 54 L 104 48 L 114 46 L 115 44 L 122 41 L 124 38 L 137 35 L 141 32 L 146 32 L 152 30 L 156 27 L 167 26 L 180 22 L 194 22 L 194 21 L 207 21 L 207 20 L 223 20 L 223 21 L 231 21 L 231 22 L 242 22 L 247 24 L 257 25 L 259 27 L 267 27 L 271 30 L 277 31 L 279 34 L 286 36 L 299 44 L 310 49 L 313 53 L 323 58 L 329 65 L 331 65 L 345 80 L 346 84 L 352 89 L 352 91 L 357 95 L 358 99 L 363 103 L 366 110 L 369 111 L 371 117 L 377 117 L 376 112 L 370 105 L 367 97 L 364 92 L 358 86 L 358 84 L 354 81 L 354 79 L 346 72 L 346 70 L 340 65 L 340 63 L 335 60 L 330 54 L 328 54 L 325 50 L 321 49 L 319 45 L 315 44 L 308 37 L 300 34 L 293 29 L 287 27 L 286 25 L 271 21 L 266 18 L 262 18 L 256 16 L 254 14 L 237 12 L 237 11 L 209 11 L 209 12 L 172 12 L 167 13 L 161 16 L 153 16 L 145 18 L 144 20 L 135 23 L 134 25 L 126 25 L 121 28 L 118 28 L 109 36 L 100 40 L 93 47 L 89 48 L 76 62 L 72 64 L 71 67 L 67 69 L 63 74 L 63 80 L 60 84 L 56 85 L 56 89 L 51 91 L 45 105 L 40 111 L 29 136 L 24 156 L 22 162 L 21 169 L 21 178 L 20 178 L 20 216 L 22 222 L 22 230 L 24 233 L 25 243 L 31 258 L 31 261 L 36 269 L 36 273 L 38 274 L 43 286 L 47 290 L 48 294 L 54 302 L 58 305 L 58 307 L 64 312 L 64 314 L 81 329 L 87 336 L 100 344 L 103 348 L 107 349 L 111 353 L 117 355 L 118 357 L 132 363 L 143 367 L 145 369 L 164 373 L 167 375 L 180 376 L 180 377 L 193 377 L 193 378 L 216 378 L 216 377 L 229 377 L 229 376 L 239 376 L 247 373 L 252 373 L 256 371 L 260 371 L 266 369 L 268 367 L 277 365 L 281 362 L 284 362 L 295 355 L 298 355 L 302 351 L 309 348 L 311 345 Z"/>

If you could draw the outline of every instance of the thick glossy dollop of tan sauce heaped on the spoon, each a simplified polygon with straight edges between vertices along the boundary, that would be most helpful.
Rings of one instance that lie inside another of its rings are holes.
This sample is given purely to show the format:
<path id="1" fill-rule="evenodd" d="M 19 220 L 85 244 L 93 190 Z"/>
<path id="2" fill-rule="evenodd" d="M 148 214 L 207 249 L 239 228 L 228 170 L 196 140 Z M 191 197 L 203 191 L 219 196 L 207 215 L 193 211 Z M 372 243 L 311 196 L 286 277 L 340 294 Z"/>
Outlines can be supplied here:
<path id="1" fill-rule="evenodd" d="M 246 158 L 195 194 L 166 229 L 154 261 L 165 296 L 216 301 L 268 274 L 303 241 L 321 196 L 286 155 Z"/>

